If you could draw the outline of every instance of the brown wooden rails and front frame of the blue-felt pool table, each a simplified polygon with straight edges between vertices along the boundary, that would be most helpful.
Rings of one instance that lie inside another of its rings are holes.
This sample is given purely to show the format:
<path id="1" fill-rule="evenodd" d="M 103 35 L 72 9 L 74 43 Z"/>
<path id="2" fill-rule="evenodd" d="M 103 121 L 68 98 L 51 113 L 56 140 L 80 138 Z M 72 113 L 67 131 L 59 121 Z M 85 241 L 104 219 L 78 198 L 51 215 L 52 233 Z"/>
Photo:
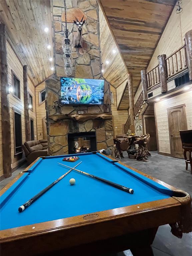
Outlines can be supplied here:
<path id="1" fill-rule="evenodd" d="M 39 159 L 39 158 L 38 158 Z M 38 161 L 34 161 L 24 172 Z M 149 179 L 171 189 L 176 190 L 156 178 L 144 174 L 121 162 L 120 164 L 146 176 Z M 1 190 L 3 194 L 23 173 L 20 173 L 6 188 Z M 190 205 L 191 197 L 183 192 L 183 200 Z M 141 203 L 91 214 L 79 215 L 70 218 L 58 219 L 23 227 L 2 230 L 1 255 L 74 255 L 83 250 L 82 255 L 125 250 L 138 247 L 148 249 L 153 242 L 155 233 L 160 225 L 176 223 L 182 218 L 182 202 L 177 198 L 167 198 L 152 202 Z M 37 213 L 38 214 L 38 213 Z M 35 227 L 35 228 L 34 228 Z M 137 240 L 137 243 L 135 242 Z M 116 242 L 115 242 L 116 241 Z M 94 247 L 93 247 L 94 246 Z M 23 249 L 21 249 L 23 248 Z M 87 248 L 87 254 L 86 250 Z M 99 251 L 102 248 L 101 251 Z M 22 250 L 22 253 L 21 253 Z M 72 253 L 72 254 L 71 254 Z M 134 255 L 137 255 L 136 253 Z M 139 254 L 138 254 L 139 255 Z M 147 255 L 147 254 L 146 254 Z M 152 255 L 152 254 L 148 254 Z"/>

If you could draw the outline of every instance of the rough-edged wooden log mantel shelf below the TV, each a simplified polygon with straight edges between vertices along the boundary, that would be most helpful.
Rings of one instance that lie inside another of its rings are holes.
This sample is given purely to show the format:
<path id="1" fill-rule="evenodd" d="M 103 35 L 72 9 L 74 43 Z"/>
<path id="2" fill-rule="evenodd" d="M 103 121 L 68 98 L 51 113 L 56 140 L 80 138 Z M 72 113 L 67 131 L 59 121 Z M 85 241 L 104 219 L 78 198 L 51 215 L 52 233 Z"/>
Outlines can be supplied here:
<path id="1" fill-rule="evenodd" d="M 112 113 L 97 113 L 97 114 L 58 114 L 49 115 L 49 119 L 59 121 L 64 119 L 74 119 L 77 122 L 85 122 L 90 119 L 112 119 Z"/>

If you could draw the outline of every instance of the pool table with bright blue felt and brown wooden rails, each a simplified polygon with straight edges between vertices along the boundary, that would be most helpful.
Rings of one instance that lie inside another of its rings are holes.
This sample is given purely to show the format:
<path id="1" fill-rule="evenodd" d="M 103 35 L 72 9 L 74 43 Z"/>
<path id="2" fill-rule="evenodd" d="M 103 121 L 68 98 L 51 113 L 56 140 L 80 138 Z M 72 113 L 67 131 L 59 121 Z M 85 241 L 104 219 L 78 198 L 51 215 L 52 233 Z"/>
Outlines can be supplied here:
<path id="1" fill-rule="evenodd" d="M 188 193 L 98 152 L 41 157 L 1 190 L 1 255 L 101 255 L 130 249 L 153 255 L 160 225 L 181 236 L 191 231 Z M 134 189 L 133 194 L 75 170 L 23 212 L 18 207 L 69 169 L 66 164 Z M 69 180 L 75 178 L 75 185 Z M 178 231 L 175 223 L 179 224 Z"/>

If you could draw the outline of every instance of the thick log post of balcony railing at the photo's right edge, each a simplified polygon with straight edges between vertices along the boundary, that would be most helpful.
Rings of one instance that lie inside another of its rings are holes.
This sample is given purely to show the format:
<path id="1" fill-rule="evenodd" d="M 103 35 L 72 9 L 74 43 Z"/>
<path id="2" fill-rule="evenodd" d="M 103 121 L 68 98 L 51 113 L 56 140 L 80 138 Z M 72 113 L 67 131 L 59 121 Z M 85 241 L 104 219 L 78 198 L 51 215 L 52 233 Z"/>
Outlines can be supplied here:
<path id="1" fill-rule="evenodd" d="M 189 79 L 192 80 L 192 30 L 185 34 L 186 60 L 189 70 Z"/>

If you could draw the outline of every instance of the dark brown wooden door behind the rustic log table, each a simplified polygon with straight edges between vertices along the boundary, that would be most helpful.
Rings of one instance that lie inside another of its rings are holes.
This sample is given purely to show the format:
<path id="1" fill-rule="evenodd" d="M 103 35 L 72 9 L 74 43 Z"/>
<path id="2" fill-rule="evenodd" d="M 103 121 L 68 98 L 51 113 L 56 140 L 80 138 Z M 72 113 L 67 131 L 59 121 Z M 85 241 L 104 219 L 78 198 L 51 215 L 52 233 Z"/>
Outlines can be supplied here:
<path id="1" fill-rule="evenodd" d="M 157 150 L 157 138 L 154 116 L 145 117 L 145 131 L 147 134 L 150 135 L 150 140 L 147 144 L 148 150 Z"/>

